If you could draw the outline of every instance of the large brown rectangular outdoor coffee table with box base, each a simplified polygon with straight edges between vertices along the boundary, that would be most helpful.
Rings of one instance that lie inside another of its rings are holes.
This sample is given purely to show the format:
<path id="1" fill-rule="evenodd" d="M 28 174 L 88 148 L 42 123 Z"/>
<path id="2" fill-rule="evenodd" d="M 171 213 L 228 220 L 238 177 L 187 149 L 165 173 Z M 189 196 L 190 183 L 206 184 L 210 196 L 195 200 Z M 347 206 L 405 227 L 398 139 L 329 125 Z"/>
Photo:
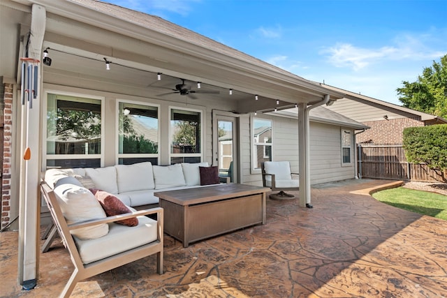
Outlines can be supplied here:
<path id="1" fill-rule="evenodd" d="M 164 232 L 191 242 L 265 224 L 265 193 L 270 188 L 246 184 L 219 184 L 177 191 L 159 191 L 164 212 Z"/>

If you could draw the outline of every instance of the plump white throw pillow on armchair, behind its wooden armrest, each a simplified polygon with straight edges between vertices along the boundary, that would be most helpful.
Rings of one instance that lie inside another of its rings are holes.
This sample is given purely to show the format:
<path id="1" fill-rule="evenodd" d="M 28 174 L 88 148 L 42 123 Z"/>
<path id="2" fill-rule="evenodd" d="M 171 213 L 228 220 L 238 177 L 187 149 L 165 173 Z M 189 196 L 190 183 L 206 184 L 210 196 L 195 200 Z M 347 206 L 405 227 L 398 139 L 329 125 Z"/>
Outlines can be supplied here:
<path id="1" fill-rule="evenodd" d="M 54 188 L 62 214 L 68 225 L 91 219 L 105 218 L 105 212 L 95 196 L 87 188 L 75 184 L 61 184 Z M 109 231 L 107 223 L 72 230 L 80 239 L 96 239 Z"/>

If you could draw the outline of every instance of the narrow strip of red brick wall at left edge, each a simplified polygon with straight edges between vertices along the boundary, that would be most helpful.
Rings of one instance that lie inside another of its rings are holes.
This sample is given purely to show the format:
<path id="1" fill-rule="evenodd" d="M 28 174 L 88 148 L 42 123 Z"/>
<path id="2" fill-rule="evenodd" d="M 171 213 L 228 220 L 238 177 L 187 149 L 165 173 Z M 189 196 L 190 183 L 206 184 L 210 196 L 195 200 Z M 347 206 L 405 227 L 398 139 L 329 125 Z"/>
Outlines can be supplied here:
<path id="1" fill-rule="evenodd" d="M 1 228 L 6 227 L 10 218 L 11 200 L 11 135 L 13 133 L 13 84 L 4 84 L 4 126 L 3 126 L 3 174 L 1 177 Z"/>

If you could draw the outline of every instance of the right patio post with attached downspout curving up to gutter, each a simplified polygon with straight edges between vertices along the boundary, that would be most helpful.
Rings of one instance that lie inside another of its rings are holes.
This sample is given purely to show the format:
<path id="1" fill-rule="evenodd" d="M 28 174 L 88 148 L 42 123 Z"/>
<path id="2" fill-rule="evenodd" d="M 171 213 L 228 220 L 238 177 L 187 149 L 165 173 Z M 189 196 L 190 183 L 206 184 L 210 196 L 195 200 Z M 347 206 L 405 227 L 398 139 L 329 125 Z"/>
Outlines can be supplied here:
<path id="1" fill-rule="evenodd" d="M 330 95 L 326 94 L 318 103 L 298 105 L 298 138 L 299 138 L 299 160 L 300 160 L 300 207 L 312 208 L 310 193 L 310 140 L 309 140 L 309 112 L 315 107 L 325 105 L 329 102 Z"/>

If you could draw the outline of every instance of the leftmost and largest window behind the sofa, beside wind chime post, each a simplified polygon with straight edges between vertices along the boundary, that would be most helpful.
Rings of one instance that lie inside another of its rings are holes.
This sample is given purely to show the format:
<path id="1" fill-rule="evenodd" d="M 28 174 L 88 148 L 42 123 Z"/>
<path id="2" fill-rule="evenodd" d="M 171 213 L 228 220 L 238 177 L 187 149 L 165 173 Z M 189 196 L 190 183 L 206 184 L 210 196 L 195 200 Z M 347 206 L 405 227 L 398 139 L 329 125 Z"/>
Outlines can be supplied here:
<path id="1" fill-rule="evenodd" d="M 101 166 L 101 100 L 47 94 L 47 167 Z"/>

